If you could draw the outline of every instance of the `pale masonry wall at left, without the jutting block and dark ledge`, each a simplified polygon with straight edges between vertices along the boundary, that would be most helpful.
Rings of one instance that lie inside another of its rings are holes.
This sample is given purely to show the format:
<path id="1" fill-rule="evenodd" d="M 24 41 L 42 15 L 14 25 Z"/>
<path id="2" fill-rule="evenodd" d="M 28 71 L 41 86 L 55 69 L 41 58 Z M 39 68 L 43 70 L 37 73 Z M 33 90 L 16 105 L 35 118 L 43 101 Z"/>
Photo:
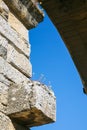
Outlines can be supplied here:
<path id="1" fill-rule="evenodd" d="M 19 84 L 25 79 L 27 81 L 27 77 L 32 75 L 28 31 L 23 25 L 20 25 L 23 35 L 16 31 L 14 26 L 19 25 L 17 23 L 19 21 L 15 20 L 17 22 L 12 24 L 13 17 L 9 15 L 11 13 L 8 7 L 0 0 L 0 130 L 29 130 L 27 127 L 12 122 L 6 116 L 8 90 L 11 83 Z"/>

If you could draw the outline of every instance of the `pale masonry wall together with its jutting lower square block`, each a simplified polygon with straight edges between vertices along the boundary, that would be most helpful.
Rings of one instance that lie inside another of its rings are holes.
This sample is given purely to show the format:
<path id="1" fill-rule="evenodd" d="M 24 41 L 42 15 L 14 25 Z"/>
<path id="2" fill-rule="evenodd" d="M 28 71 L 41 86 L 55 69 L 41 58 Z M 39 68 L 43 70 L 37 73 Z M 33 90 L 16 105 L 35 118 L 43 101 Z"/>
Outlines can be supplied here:
<path id="1" fill-rule="evenodd" d="M 0 130 L 29 130 L 56 120 L 53 91 L 31 77 L 28 30 L 0 0 Z"/>

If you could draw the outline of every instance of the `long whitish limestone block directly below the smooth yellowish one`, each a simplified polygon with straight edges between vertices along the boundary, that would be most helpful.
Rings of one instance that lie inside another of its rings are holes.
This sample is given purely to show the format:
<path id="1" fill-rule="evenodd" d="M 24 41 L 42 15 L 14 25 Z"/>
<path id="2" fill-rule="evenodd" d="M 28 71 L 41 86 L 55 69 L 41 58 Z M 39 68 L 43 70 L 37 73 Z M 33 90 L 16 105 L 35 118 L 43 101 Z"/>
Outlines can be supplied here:
<path id="1" fill-rule="evenodd" d="M 21 38 L 21 36 L 10 27 L 10 25 L 0 16 L 0 33 L 9 40 L 9 43 L 12 44 L 17 50 L 29 57 L 30 55 L 30 45 L 28 42 Z"/>

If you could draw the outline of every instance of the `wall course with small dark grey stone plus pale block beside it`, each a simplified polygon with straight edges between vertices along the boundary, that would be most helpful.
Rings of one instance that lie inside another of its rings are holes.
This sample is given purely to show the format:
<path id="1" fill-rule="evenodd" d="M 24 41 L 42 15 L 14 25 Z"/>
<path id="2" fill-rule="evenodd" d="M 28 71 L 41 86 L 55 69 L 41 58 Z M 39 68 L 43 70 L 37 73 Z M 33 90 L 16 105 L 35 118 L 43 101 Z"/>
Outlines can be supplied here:
<path id="1" fill-rule="evenodd" d="M 12 44 L 9 44 L 2 35 L 0 35 L 0 56 L 5 60 L 7 59 L 14 68 L 17 68 L 27 77 L 32 76 L 32 65 L 29 59 L 21 54 Z"/>

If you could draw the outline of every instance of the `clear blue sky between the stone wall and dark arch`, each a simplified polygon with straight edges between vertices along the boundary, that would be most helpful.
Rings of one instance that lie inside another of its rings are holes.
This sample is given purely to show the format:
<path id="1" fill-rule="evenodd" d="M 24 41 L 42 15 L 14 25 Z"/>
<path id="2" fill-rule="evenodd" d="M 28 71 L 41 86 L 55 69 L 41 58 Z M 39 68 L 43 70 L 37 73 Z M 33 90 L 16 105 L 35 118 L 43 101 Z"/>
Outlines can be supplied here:
<path id="1" fill-rule="evenodd" d="M 29 32 L 33 79 L 44 74 L 57 99 L 57 120 L 31 130 L 87 130 L 87 96 L 69 52 L 58 31 L 45 15 L 37 28 Z"/>

